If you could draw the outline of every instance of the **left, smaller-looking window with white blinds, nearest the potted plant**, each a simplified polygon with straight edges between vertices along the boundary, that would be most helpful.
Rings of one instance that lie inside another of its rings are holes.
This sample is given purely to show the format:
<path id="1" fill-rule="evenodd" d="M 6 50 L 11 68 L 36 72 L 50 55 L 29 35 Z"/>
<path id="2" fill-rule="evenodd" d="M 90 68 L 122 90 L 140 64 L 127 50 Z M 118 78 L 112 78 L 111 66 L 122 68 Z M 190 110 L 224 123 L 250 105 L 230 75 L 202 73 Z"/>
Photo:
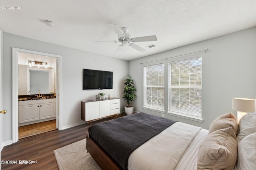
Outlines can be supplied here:
<path id="1" fill-rule="evenodd" d="M 164 111 L 164 63 L 144 67 L 144 107 Z"/>

